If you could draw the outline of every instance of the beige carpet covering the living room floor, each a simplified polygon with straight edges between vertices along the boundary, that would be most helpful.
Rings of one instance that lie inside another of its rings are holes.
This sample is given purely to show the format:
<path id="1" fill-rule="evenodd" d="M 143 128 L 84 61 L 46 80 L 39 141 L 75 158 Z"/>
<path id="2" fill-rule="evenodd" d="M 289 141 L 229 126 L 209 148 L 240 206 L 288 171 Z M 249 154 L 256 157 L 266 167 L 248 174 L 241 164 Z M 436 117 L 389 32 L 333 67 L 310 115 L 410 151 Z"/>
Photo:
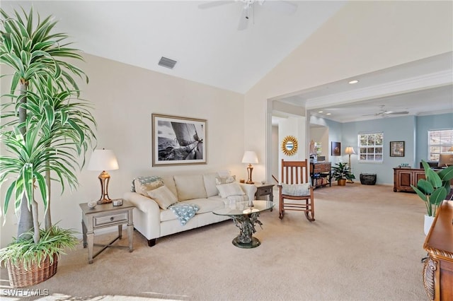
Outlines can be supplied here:
<path id="1" fill-rule="evenodd" d="M 93 264 L 79 245 L 33 288 L 49 296 L 30 299 L 428 300 L 418 196 L 355 183 L 316 189 L 315 198 L 314 223 L 296 211 L 283 220 L 277 210 L 262 213 L 255 249 L 231 244 L 238 234 L 231 221 L 163 237 L 154 247 L 134 232 L 134 252 L 110 248 Z M 7 278 L 2 269 L 3 297 Z"/>

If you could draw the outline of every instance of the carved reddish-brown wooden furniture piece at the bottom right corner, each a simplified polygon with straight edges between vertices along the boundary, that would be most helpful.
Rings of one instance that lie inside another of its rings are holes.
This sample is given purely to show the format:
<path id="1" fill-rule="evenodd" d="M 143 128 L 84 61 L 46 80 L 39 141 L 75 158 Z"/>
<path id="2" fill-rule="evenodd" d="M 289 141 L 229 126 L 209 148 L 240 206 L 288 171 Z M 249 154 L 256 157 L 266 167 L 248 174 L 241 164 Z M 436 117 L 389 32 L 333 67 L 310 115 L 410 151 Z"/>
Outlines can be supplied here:
<path id="1" fill-rule="evenodd" d="M 426 236 L 423 283 L 430 300 L 453 300 L 453 201 L 444 201 Z"/>

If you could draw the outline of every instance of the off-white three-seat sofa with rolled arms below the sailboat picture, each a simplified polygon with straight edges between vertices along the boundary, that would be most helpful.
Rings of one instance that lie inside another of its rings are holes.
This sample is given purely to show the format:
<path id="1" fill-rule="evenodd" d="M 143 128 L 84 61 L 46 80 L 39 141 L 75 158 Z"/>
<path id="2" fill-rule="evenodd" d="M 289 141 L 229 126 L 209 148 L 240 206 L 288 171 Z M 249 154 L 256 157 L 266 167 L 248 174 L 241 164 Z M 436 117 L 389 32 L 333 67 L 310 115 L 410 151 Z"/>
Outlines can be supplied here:
<path id="1" fill-rule="evenodd" d="M 219 181 L 223 184 L 219 185 Z M 254 199 L 255 185 L 231 181 L 231 177 L 219 177 L 217 173 L 138 177 L 132 180 L 132 189 L 124 194 L 123 199 L 134 204 L 134 228 L 147 238 L 149 247 L 152 247 L 159 237 L 229 219 L 228 216 L 212 213 L 215 208 L 230 202 Z M 200 208 L 185 225 L 181 225 L 171 209 L 162 207 L 162 204 L 159 206 L 161 201 L 149 196 L 149 191 L 154 191 L 156 187 L 164 188 L 161 186 L 167 187 L 178 203 L 191 203 Z"/>

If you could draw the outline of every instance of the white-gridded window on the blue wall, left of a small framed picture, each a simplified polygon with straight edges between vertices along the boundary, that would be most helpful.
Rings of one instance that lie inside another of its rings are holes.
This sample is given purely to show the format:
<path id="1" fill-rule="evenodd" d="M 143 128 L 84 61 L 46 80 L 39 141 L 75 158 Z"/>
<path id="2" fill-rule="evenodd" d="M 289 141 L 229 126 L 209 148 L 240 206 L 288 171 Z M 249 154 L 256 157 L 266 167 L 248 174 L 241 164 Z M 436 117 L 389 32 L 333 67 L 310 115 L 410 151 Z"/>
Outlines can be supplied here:
<path id="1" fill-rule="evenodd" d="M 359 161 L 382 162 L 384 133 L 359 134 Z"/>

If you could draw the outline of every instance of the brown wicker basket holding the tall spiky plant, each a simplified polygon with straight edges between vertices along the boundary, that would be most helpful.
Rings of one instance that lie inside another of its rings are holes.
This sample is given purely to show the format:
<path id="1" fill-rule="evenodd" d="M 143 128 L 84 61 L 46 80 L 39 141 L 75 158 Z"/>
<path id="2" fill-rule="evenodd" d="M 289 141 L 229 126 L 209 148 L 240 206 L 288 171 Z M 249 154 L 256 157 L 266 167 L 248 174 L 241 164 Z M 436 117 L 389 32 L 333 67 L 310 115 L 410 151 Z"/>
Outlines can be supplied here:
<path id="1" fill-rule="evenodd" d="M 42 258 L 40 264 L 28 266 L 25 270 L 23 264 L 12 264 L 10 260 L 6 261 L 8 268 L 9 284 L 13 288 L 25 288 L 46 281 L 57 273 L 58 255 L 53 255 L 53 260 L 49 256 Z"/>

